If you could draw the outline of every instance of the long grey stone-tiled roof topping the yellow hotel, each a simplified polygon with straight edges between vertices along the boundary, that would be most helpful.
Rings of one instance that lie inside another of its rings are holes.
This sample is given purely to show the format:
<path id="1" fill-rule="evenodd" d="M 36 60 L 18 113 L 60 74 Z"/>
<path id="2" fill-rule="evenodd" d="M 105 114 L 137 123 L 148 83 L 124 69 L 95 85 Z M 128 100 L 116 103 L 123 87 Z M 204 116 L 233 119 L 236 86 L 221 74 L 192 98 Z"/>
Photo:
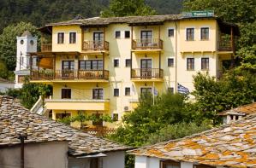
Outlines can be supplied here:
<path id="1" fill-rule="evenodd" d="M 94 17 L 83 20 L 68 20 L 63 22 L 51 23 L 46 26 L 62 26 L 62 25 L 80 25 L 80 26 L 92 26 L 92 25 L 109 25 L 112 23 L 154 23 L 164 22 L 166 20 L 181 20 L 182 14 L 164 14 L 164 15 L 150 15 L 150 16 L 126 16 L 126 17 L 110 17 L 101 18 Z"/>

